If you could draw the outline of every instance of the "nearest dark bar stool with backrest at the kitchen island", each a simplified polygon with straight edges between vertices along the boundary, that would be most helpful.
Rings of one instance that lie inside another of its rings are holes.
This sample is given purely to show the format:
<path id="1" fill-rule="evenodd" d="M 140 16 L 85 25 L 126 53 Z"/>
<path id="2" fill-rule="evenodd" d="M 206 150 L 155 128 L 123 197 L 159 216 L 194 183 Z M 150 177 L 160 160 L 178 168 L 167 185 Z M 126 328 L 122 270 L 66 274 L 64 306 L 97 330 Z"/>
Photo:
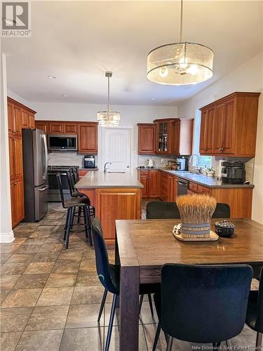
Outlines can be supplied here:
<path id="1" fill-rule="evenodd" d="M 91 246 L 93 242 L 90 234 L 90 226 L 91 226 L 90 211 L 89 211 L 90 199 L 88 199 L 87 197 L 75 197 L 75 198 L 72 197 L 72 199 L 65 200 L 63 189 L 62 189 L 62 181 L 61 181 L 60 173 L 58 173 L 56 177 L 58 182 L 58 188 L 60 190 L 62 206 L 64 208 L 67 208 L 67 219 L 66 219 L 66 225 L 64 228 L 64 237 L 63 237 L 63 239 L 65 240 L 65 248 L 68 249 L 69 247 L 69 234 L 74 225 L 74 215 L 76 212 L 76 208 L 82 208 L 83 210 L 83 219 L 84 219 L 86 238 L 88 239 L 89 244 Z"/>

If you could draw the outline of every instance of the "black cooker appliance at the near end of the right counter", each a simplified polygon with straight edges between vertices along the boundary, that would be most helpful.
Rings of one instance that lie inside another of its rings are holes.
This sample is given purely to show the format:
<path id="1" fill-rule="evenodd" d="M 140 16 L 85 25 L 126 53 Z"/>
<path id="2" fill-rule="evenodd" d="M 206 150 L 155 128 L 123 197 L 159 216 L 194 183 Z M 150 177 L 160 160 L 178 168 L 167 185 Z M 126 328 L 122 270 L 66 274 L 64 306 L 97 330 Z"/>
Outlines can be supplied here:
<path id="1" fill-rule="evenodd" d="M 243 184 L 245 182 L 245 164 L 241 161 L 222 162 L 222 183 Z"/>

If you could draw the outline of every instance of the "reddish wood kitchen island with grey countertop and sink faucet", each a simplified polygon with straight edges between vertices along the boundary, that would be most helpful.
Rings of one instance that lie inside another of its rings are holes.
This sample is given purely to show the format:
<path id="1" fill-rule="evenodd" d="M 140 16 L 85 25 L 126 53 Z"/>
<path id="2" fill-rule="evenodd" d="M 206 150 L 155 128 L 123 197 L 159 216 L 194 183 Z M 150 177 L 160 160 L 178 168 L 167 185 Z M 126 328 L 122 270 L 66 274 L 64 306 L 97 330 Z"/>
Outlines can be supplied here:
<path id="1" fill-rule="evenodd" d="M 95 206 L 95 216 L 100 218 L 107 244 L 114 244 L 115 220 L 141 218 L 142 187 L 133 172 L 89 172 L 76 183 L 76 189 Z"/>

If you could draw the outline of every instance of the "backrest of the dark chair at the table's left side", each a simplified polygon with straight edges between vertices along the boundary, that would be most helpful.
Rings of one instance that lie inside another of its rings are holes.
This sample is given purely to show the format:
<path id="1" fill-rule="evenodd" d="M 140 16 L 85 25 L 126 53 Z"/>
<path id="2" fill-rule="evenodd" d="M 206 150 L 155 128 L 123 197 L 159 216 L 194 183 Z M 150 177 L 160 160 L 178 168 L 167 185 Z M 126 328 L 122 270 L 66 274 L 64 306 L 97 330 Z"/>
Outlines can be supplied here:
<path id="1" fill-rule="evenodd" d="M 93 243 L 95 249 L 95 260 L 97 276 L 101 284 L 111 293 L 119 293 L 119 288 L 116 289 L 112 282 L 109 273 L 109 258 L 107 253 L 107 246 L 105 244 L 102 227 L 99 218 L 94 218 L 91 224 L 91 232 L 93 234 Z"/>

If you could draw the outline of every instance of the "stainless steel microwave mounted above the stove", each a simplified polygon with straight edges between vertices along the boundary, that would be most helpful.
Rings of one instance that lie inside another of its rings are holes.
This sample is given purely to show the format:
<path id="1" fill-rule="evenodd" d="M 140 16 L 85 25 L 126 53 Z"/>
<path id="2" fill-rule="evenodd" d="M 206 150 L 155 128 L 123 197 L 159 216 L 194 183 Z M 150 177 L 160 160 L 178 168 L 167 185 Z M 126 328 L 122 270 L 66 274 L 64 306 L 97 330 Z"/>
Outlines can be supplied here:
<path id="1" fill-rule="evenodd" d="M 78 150 L 78 135 L 48 134 L 48 149 L 57 151 Z"/>

